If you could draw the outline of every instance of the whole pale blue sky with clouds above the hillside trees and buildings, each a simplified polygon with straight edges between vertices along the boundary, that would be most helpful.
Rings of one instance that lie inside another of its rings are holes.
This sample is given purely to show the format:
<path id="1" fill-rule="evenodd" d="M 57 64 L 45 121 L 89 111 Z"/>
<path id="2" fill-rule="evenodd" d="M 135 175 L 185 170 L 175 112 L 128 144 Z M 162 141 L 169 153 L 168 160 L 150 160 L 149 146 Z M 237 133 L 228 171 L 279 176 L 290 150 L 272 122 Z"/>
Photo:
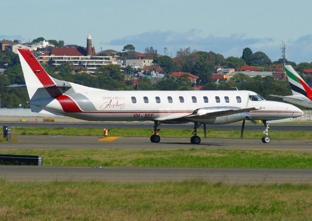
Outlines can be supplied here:
<path id="1" fill-rule="evenodd" d="M 311 0 L 3 0 L 0 39 L 37 37 L 86 45 L 96 51 L 153 47 L 176 56 L 180 48 L 242 55 L 245 47 L 272 61 L 312 61 Z M 3 10 L 5 9 L 5 10 Z"/>

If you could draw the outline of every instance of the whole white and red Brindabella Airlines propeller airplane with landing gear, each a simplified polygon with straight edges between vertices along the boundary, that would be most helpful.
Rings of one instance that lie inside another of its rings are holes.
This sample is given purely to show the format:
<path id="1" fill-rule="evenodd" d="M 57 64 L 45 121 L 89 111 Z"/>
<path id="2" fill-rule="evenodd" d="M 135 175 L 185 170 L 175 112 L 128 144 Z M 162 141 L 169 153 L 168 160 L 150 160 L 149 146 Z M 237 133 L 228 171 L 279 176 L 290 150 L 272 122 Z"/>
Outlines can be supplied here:
<path id="1" fill-rule="evenodd" d="M 194 122 L 192 144 L 199 144 L 199 126 L 262 120 L 262 137 L 269 143 L 267 120 L 294 118 L 302 111 L 291 104 L 266 101 L 251 91 L 106 91 L 51 77 L 35 56 L 18 49 L 29 104 L 34 112 L 50 112 L 89 121 L 154 121 L 151 142 L 158 143 L 161 123 Z"/>

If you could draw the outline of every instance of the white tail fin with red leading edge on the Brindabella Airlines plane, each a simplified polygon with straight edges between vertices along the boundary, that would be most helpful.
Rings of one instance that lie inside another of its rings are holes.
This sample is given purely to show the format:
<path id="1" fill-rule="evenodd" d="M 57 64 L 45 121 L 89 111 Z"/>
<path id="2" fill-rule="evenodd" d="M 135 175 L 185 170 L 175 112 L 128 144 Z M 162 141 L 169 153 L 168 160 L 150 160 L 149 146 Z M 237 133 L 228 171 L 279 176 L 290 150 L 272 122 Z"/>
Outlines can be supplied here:
<path id="1" fill-rule="evenodd" d="M 39 99 L 41 98 L 41 95 L 38 92 L 39 88 L 52 87 L 55 86 L 56 83 L 52 77 L 45 72 L 31 51 L 27 49 L 18 49 L 18 52 L 29 99 Z"/>

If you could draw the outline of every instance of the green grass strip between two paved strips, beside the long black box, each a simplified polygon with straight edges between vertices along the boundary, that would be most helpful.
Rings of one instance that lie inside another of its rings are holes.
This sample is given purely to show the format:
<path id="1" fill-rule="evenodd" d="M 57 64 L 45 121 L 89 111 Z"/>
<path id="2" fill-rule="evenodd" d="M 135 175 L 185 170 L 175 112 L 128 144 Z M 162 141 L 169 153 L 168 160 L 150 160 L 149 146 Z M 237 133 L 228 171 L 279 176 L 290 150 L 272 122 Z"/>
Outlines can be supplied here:
<path id="1" fill-rule="evenodd" d="M 274 150 L 16 149 L 0 154 L 40 155 L 44 166 L 312 168 L 311 153 Z"/>

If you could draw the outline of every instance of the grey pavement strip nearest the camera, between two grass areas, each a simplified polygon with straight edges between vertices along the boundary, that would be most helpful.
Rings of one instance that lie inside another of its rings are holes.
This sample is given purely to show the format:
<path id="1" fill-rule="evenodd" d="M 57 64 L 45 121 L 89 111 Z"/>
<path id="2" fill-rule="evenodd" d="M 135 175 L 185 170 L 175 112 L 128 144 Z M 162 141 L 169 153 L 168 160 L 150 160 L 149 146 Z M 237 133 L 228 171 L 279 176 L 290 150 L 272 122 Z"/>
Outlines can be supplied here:
<path id="1" fill-rule="evenodd" d="M 0 166 L 7 182 L 104 181 L 156 183 L 205 181 L 222 184 L 312 184 L 312 169 Z"/>

